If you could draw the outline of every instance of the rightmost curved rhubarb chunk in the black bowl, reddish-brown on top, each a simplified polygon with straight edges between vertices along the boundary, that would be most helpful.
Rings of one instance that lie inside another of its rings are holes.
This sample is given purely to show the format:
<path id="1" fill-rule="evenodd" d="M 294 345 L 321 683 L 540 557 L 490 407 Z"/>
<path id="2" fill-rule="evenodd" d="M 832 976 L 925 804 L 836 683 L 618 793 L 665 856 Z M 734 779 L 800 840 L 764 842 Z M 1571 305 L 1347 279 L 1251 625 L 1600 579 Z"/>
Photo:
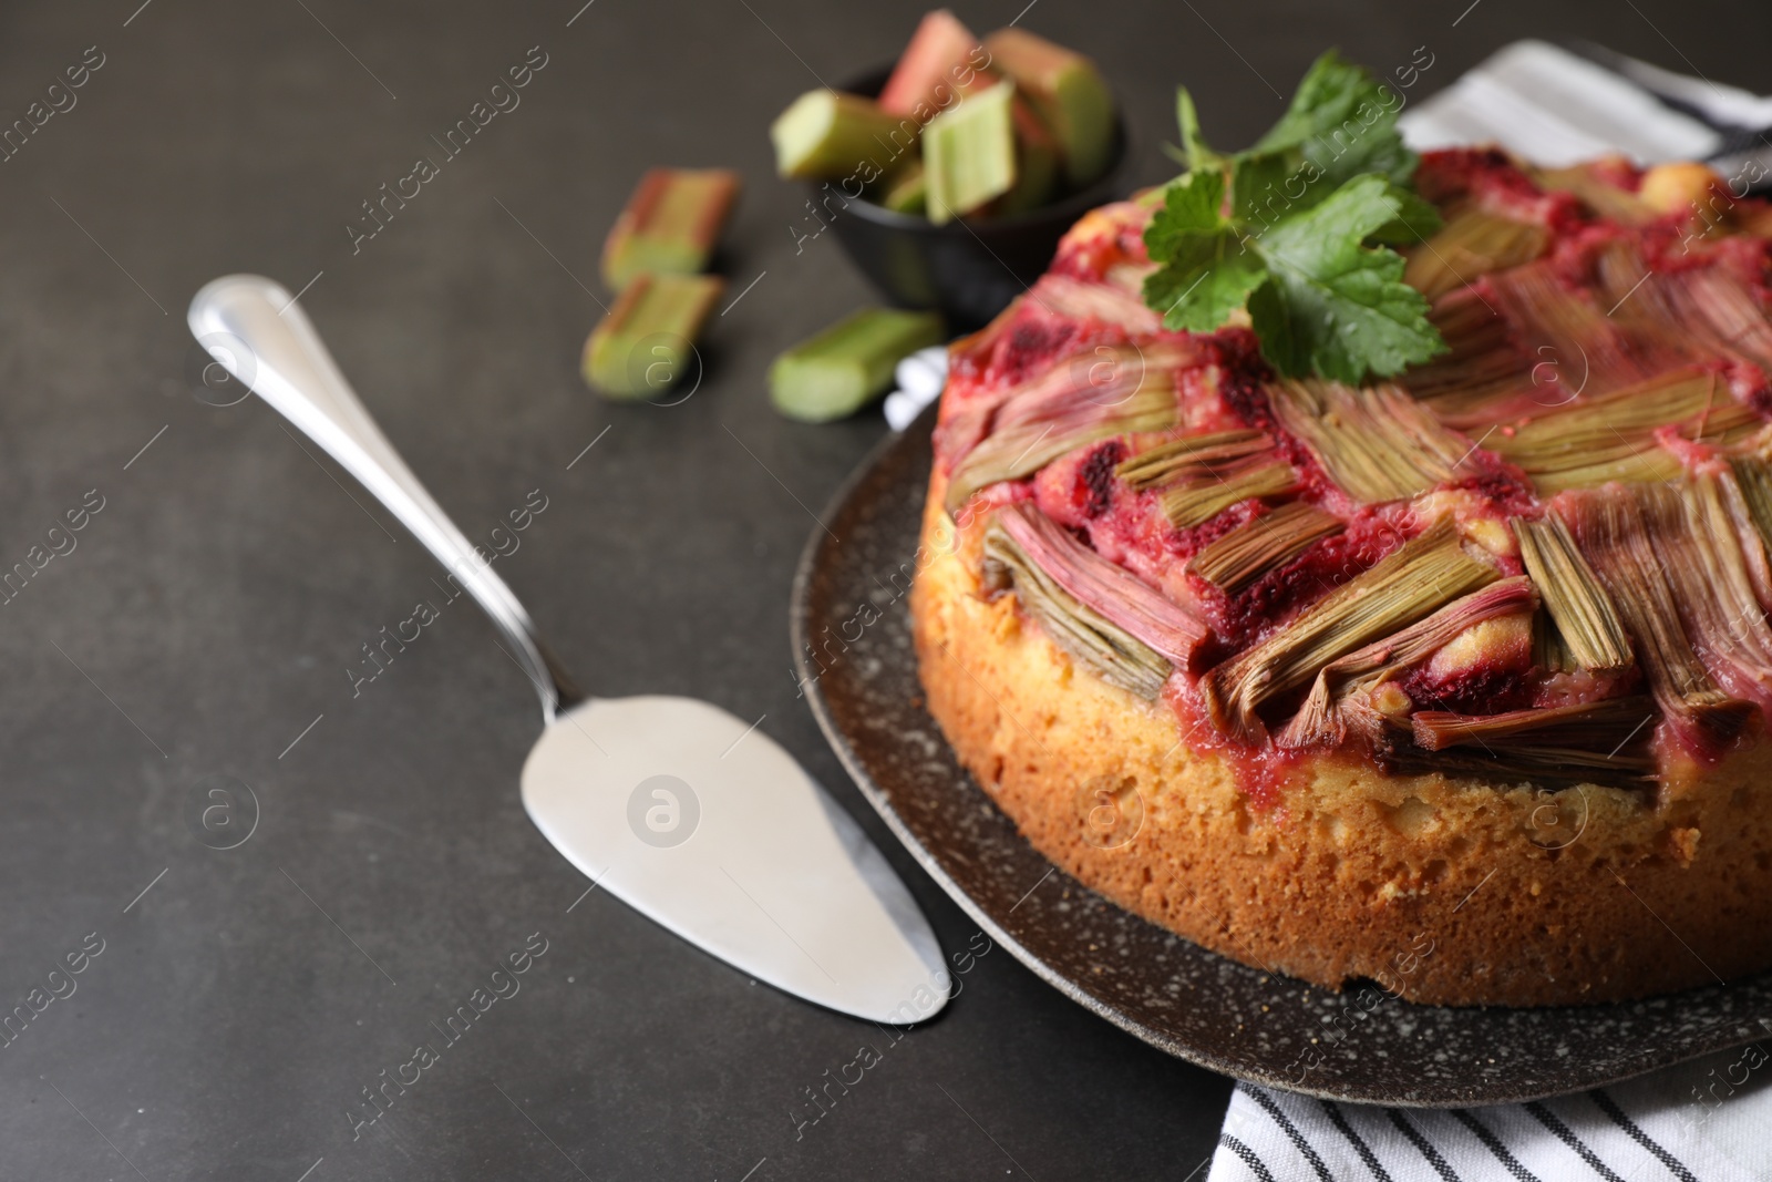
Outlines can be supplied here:
<path id="1" fill-rule="evenodd" d="M 991 67 L 1014 80 L 1053 129 L 1072 188 L 1108 172 L 1115 149 L 1113 96 L 1095 62 L 1014 27 L 985 37 L 985 53 Z"/>

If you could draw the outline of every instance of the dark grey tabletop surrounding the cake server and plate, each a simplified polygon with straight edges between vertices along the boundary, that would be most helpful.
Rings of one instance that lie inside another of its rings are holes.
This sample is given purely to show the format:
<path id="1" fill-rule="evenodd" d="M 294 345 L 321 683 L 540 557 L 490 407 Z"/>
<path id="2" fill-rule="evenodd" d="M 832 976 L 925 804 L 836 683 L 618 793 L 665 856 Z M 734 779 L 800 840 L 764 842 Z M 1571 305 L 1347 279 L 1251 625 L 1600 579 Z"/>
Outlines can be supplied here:
<path id="1" fill-rule="evenodd" d="M 0 606 L 0 1012 L 105 941 L 0 1049 L 0 1177 L 1187 1178 L 1228 1081 L 1001 950 L 888 1042 L 601 893 L 567 914 L 587 883 L 523 813 L 540 719 L 491 627 L 447 608 L 353 700 L 346 666 L 436 565 L 269 409 L 190 392 L 204 280 L 319 276 L 305 307 L 470 537 L 548 498 L 500 569 L 579 679 L 766 714 L 964 950 L 971 923 L 874 820 L 789 673 L 812 512 L 884 425 L 789 424 L 764 393 L 776 351 L 868 299 L 833 236 L 796 250 L 803 193 L 773 177 L 766 126 L 815 74 L 891 58 L 918 5 L 138 4 L 0 14 L 5 124 L 105 55 L 0 163 L 0 569 L 105 498 Z M 1021 4 L 955 7 L 983 32 Z M 1411 97 L 1522 35 L 1772 89 L 1772 18 L 1719 0 L 1038 0 L 1022 23 L 1108 71 L 1139 183 L 1171 172 L 1177 82 L 1240 145 L 1329 44 L 1380 74 L 1426 46 Z M 360 202 L 532 46 L 548 66 L 521 106 L 353 255 Z M 714 321 L 695 397 L 610 406 L 576 376 L 610 299 L 595 257 L 656 163 L 739 168 L 728 298 L 767 275 Z M 193 835 L 206 776 L 257 797 L 237 849 Z M 360 1090 L 532 932 L 549 948 L 521 992 L 353 1141 Z M 863 1042 L 884 1060 L 796 1136 L 803 1090 Z"/>

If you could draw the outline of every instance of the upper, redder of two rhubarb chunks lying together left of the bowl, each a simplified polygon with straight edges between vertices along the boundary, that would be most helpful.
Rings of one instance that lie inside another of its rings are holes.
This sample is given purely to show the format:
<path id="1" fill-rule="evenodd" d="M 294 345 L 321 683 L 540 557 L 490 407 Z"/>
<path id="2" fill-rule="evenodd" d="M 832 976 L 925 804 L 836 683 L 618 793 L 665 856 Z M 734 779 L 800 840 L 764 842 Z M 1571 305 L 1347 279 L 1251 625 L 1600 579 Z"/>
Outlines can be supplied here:
<path id="1" fill-rule="evenodd" d="M 698 275 L 739 195 L 728 168 L 650 168 L 602 243 L 602 282 L 615 291 L 636 275 Z"/>

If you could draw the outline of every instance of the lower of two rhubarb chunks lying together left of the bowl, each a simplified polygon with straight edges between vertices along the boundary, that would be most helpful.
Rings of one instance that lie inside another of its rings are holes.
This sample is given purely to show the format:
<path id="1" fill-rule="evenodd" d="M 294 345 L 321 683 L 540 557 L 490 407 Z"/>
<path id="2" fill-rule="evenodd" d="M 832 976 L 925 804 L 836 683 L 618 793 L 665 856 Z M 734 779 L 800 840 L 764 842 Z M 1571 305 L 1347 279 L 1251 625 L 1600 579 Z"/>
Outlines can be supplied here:
<path id="1" fill-rule="evenodd" d="M 585 342 L 585 381 L 611 399 L 664 393 L 691 369 L 721 291 L 714 275 L 634 276 Z"/>

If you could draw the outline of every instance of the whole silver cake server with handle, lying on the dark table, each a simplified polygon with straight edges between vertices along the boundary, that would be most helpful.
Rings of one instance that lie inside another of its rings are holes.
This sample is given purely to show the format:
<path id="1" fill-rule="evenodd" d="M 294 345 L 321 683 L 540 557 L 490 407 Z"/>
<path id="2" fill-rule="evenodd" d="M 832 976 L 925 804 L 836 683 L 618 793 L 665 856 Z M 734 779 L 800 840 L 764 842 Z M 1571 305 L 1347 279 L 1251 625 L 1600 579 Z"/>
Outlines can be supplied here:
<path id="1" fill-rule="evenodd" d="M 941 1008 L 941 946 L 849 813 L 766 734 L 707 702 L 579 695 L 284 287 L 229 275 L 197 292 L 188 319 L 218 365 L 326 448 L 491 617 L 542 704 L 523 806 L 592 888 L 833 1010 L 918 1023 Z"/>

